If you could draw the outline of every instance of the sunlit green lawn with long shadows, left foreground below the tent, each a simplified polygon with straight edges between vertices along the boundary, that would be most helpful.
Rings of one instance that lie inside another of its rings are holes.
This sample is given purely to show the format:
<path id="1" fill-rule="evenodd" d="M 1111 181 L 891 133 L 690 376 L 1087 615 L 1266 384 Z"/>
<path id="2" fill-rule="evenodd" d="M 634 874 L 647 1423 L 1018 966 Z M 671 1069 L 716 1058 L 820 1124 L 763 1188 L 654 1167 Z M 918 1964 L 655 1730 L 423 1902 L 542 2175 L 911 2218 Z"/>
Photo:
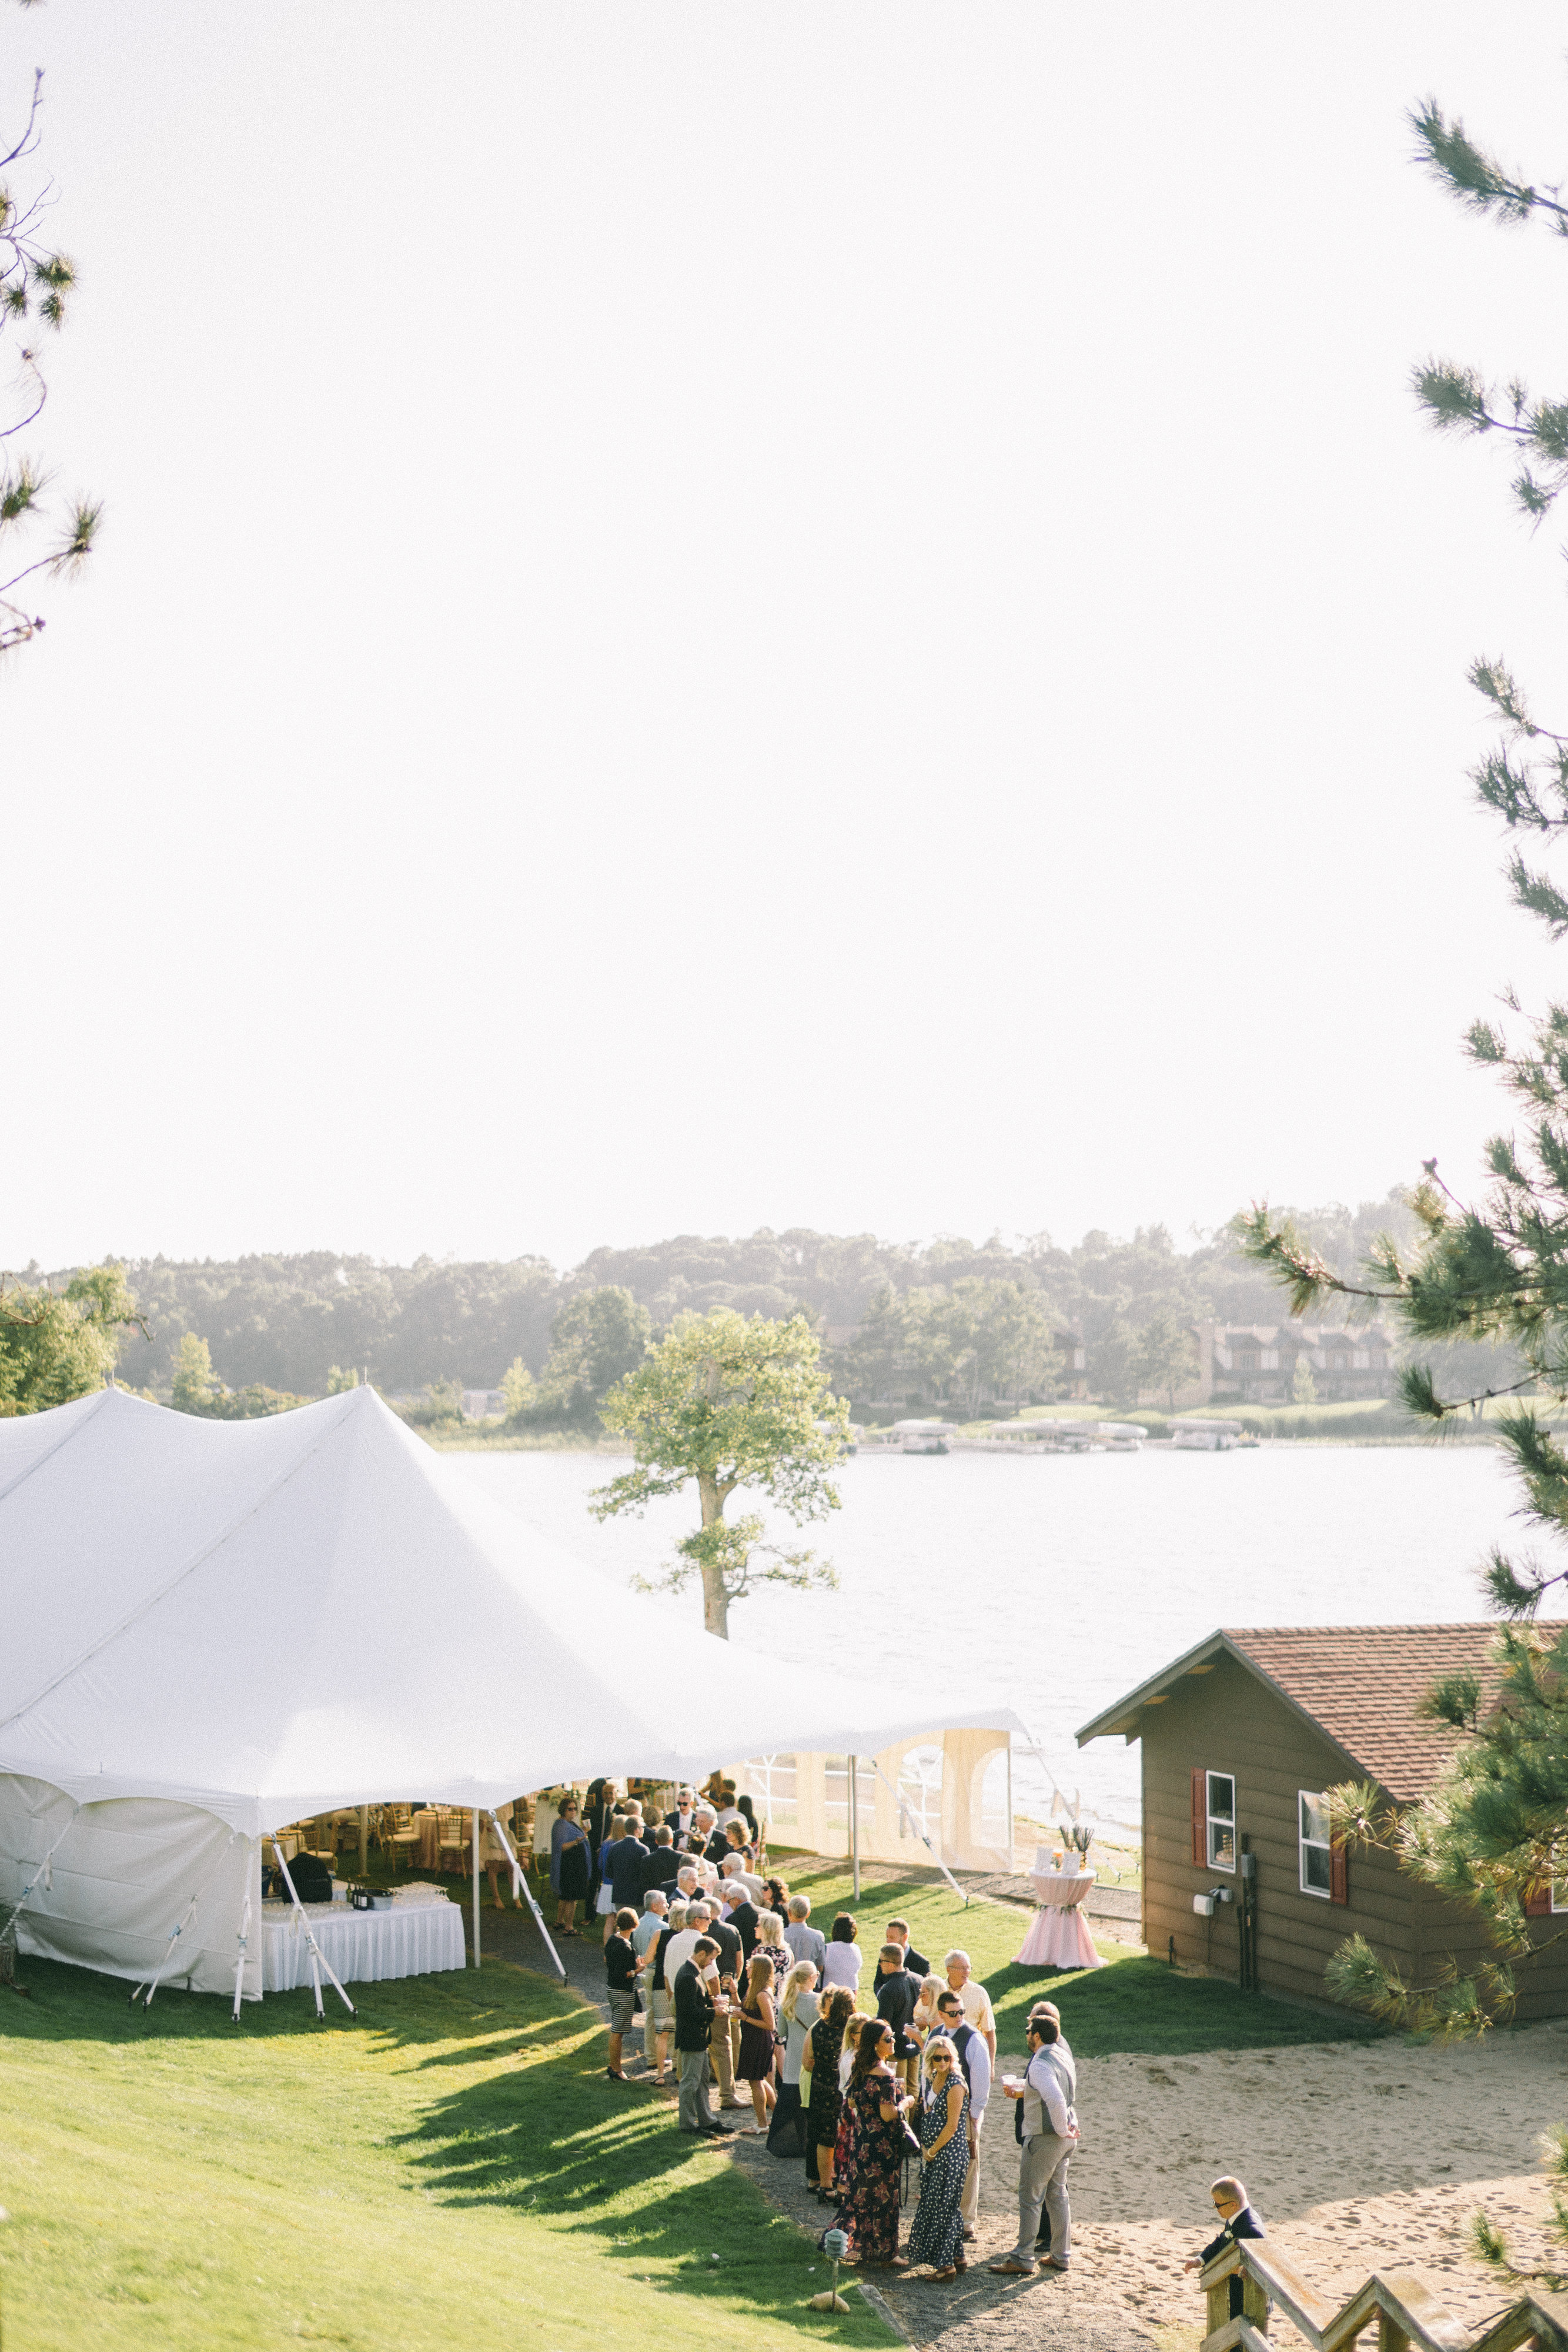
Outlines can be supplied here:
<path id="1" fill-rule="evenodd" d="M 0 1990 L 0 2305 L 9 2352 L 364 2352 L 696 2338 L 886 2347 L 858 2296 L 804 2310 L 809 2237 L 675 2114 L 604 2079 L 592 2011 L 475 1978 L 223 2002 L 21 1959 Z M 715 2263 L 712 2256 L 719 2256 Z M 816 2265 L 816 2267 L 813 2267 Z"/>

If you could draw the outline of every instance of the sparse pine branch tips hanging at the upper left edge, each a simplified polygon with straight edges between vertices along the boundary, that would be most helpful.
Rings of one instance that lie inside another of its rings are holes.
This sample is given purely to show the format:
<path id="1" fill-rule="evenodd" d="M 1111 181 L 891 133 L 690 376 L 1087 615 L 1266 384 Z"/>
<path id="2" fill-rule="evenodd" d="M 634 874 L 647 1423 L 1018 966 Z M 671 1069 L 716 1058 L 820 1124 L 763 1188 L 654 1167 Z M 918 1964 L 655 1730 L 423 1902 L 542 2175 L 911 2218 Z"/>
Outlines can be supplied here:
<path id="1" fill-rule="evenodd" d="M 33 75 L 33 103 L 21 136 L 0 153 L 0 174 L 26 165 L 38 153 L 40 106 L 42 71 Z M 26 604 L 19 602 L 26 583 L 38 574 L 66 579 L 80 572 L 92 555 L 103 513 L 92 499 L 75 499 L 63 510 L 52 513 L 47 503 L 49 475 L 38 459 L 24 456 L 19 449 L 19 435 L 38 421 L 49 397 L 40 336 L 63 327 L 66 296 L 75 287 L 75 263 L 66 254 L 49 252 L 42 242 L 47 209 L 47 183 L 16 195 L 9 181 L 0 179 L 0 339 L 7 332 L 19 339 L 16 381 L 9 405 L 0 409 L 0 654 L 26 644 L 45 626 L 42 614 L 31 609 L 31 595 Z M 24 548 L 14 543 L 28 529 L 42 529 L 42 546 L 31 539 L 26 562 L 19 562 Z"/>

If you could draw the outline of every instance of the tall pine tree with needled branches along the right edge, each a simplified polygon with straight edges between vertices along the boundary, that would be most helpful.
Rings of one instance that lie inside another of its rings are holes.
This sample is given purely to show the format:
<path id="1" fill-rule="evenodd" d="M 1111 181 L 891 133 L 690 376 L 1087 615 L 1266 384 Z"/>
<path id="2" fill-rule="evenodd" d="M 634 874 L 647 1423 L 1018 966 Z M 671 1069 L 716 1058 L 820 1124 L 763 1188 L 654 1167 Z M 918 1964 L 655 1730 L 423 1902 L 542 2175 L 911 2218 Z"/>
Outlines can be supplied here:
<path id="1" fill-rule="evenodd" d="M 1568 207 L 1556 193 L 1505 172 L 1436 101 L 1410 122 L 1420 160 L 1469 212 L 1505 226 L 1540 221 L 1568 235 Z M 1415 397 L 1439 430 L 1500 437 L 1519 466 L 1512 482 L 1519 510 L 1533 524 L 1552 513 L 1568 487 L 1568 400 L 1537 400 L 1519 381 L 1495 393 L 1474 367 L 1453 360 L 1418 367 Z M 1505 661 L 1476 661 L 1469 677 L 1502 724 L 1502 739 L 1472 771 L 1476 797 L 1516 840 L 1549 849 L 1568 833 L 1568 727 L 1552 729 L 1530 715 Z M 1519 849 L 1507 875 L 1516 906 L 1542 920 L 1554 941 L 1566 938 L 1561 887 Z M 1288 1287 L 1293 1315 L 1338 1296 L 1352 1312 L 1392 1312 L 1415 1343 L 1509 1343 L 1526 1369 L 1502 1390 L 1519 1402 L 1497 1416 L 1497 1432 L 1523 1484 L 1523 1517 L 1563 1538 L 1568 1451 L 1526 1397 L 1568 1402 L 1568 1004 L 1526 1016 L 1512 993 L 1502 1002 L 1516 1018 L 1476 1021 L 1467 1049 L 1502 1077 L 1521 1134 L 1488 1143 L 1490 1185 L 1479 1200 L 1455 1197 L 1427 1160 L 1410 1195 L 1420 1221 L 1415 1249 L 1403 1254 L 1382 1237 L 1363 1284 L 1335 1275 L 1267 1204 L 1244 1216 L 1239 1232 L 1246 1254 Z M 1432 1423 L 1479 1411 L 1500 1395 L 1443 1397 L 1432 1367 L 1420 1362 L 1403 1369 L 1401 1392 Z M 1413 1877 L 1476 1907 L 1500 1957 L 1469 1978 L 1439 1966 L 1413 1983 L 1356 1936 L 1328 1964 L 1338 1999 L 1448 2037 L 1481 2032 L 1512 2006 L 1514 1971 L 1537 1966 L 1561 1943 L 1566 1929 L 1542 1936 L 1530 1919 L 1552 1912 L 1552 1889 L 1568 1879 L 1568 1625 L 1537 1623 L 1547 1592 L 1566 1583 L 1563 1566 L 1493 1550 L 1483 1585 L 1493 1611 L 1512 1623 L 1500 1625 L 1481 1675 L 1448 1675 L 1422 1708 L 1455 1733 L 1448 1771 L 1403 1811 L 1356 1783 L 1328 1797 L 1335 1837 L 1389 1846 Z M 1556 2176 L 1549 2232 L 1568 2249 L 1568 2126 L 1549 2138 Z M 1483 2213 L 1474 2216 L 1472 2246 L 1500 2272 L 1521 2277 Z M 1561 2263 L 1535 2277 L 1568 2284 Z"/>

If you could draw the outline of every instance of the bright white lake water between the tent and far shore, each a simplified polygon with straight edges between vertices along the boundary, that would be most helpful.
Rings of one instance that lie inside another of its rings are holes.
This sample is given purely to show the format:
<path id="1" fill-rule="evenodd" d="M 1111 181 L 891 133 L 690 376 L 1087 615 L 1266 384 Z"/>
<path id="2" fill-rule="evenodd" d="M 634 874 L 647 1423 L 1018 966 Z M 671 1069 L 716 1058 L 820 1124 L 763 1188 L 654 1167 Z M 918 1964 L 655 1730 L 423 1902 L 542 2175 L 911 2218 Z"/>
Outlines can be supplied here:
<path id="1" fill-rule="evenodd" d="M 588 1491 L 621 1468 L 602 1454 L 449 1461 L 616 1581 L 658 1569 L 696 1519 L 691 1491 L 599 1526 Z M 1138 1748 L 1079 1750 L 1074 1731 L 1145 1675 L 1215 1625 L 1479 1618 L 1479 1566 L 1519 1538 L 1519 1491 L 1490 1446 L 856 1456 L 839 1486 L 844 1508 L 795 1536 L 835 1562 L 839 1590 L 764 1588 L 731 1609 L 731 1639 L 882 1668 L 933 1698 L 943 1679 L 985 1691 L 1044 1750 L 1016 1757 L 1020 1811 L 1046 1813 L 1053 1773 L 1126 1825 Z M 701 1625 L 696 1588 L 665 1606 Z"/>

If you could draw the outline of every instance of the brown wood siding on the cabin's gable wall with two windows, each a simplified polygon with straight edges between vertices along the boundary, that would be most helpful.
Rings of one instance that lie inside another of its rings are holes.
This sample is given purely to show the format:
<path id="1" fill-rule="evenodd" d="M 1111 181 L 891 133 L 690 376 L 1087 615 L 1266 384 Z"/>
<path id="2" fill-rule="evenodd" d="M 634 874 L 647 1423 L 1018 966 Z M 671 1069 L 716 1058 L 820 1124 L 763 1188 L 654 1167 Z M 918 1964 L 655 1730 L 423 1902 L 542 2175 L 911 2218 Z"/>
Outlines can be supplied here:
<path id="1" fill-rule="evenodd" d="M 1418 1964 L 1420 1889 L 1392 1856 L 1349 1856 L 1349 1903 L 1300 1889 L 1295 1799 L 1300 1790 L 1352 1778 L 1340 1750 L 1314 1731 L 1234 1658 L 1178 1684 L 1143 1712 L 1143 1936 L 1164 1955 L 1171 1938 L 1185 1966 L 1239 1973 L 1237 1905 L 1199 1919 L 1192 1898 L 1211 1886 L 1239 1891 L 1239 1872 L 1192 1860 L 1192 1773 L 1237 1783 L 1237 1839 L 1258 1856 L 1258 1978 L 1269 1992 L 1326 1999 L 1324 1966 L 1347 1936 L 1410 1971 Z"/>

